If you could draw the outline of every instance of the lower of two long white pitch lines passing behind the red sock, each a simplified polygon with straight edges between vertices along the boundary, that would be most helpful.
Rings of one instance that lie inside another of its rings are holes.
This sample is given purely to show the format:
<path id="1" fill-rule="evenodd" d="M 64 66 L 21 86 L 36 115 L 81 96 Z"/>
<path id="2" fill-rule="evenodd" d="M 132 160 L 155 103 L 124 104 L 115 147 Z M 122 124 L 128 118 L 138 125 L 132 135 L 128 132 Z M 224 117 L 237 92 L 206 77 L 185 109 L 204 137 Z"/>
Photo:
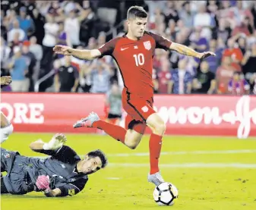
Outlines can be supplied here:
<path id="1" fill-rule="evenodd" d="M 141 168 L 149 167 L 149 164 L 144 163 L 109 163 L 111 167 L 126 167 L 126 168 Z M 160 164 L 161 168 L 251 168 L 255 169 L 256 164 L 243 163 L 174 163 Z"/>

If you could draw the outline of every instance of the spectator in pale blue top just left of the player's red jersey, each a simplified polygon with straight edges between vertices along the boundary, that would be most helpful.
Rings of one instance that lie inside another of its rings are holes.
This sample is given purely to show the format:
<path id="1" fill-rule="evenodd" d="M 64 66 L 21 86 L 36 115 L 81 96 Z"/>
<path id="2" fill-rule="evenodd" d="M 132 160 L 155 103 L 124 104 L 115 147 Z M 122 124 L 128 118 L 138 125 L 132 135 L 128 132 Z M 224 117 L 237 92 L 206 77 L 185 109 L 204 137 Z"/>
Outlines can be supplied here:
<path id="1" fill-rule="evenodd" d="M 90 92 L 106 93 L 110 88 L 110 78 L 113 75 L 112 68 L 106 64 L 102 59 L 93 62 L 89 67 L 91 74 L 92 87 Z"/>

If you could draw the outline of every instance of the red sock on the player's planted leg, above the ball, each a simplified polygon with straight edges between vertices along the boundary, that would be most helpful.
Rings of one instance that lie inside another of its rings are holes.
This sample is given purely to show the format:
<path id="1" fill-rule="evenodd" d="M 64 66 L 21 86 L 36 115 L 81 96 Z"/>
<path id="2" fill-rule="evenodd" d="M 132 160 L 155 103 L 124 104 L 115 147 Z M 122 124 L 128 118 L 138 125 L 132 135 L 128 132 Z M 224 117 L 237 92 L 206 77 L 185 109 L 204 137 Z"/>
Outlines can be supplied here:
<path id="1" fill-rule="evenodd" d="M 162 147 L 163 136 L 154 133 L 150 136 L 150 174 L 156 174 L 159 171 L 158 160 Z"/>

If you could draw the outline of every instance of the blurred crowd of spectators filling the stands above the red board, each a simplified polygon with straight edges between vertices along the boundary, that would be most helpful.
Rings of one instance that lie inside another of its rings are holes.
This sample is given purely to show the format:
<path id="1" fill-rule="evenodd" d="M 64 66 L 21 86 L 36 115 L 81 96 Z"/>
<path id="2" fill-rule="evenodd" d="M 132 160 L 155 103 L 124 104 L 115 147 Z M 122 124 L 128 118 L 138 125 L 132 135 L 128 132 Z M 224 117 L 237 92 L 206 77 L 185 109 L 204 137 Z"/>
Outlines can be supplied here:
<path id="1" fill-rule="evenodd" d="M 2 1 L 2 91 L 107 93 L 122 88 L 109 56 L 93 61 L 55 55 L 54 45 L 96 49 L 127 30 L 126 11 L 148 11 L 147 30 L 198 52 L 204 61 L 157 49 L 156 93 L 256 94 L 256 2 L 254 1 Z"/>

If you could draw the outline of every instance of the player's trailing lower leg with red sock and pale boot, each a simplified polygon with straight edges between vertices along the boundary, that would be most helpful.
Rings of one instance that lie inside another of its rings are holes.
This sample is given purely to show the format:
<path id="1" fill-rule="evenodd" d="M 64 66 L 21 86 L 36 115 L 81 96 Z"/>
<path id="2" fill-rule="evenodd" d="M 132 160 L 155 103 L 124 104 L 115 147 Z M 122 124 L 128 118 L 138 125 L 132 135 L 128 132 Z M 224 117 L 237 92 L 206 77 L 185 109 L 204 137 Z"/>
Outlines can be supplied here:
<path id="1" fill-rule="evenodd" d="M 125 135 L 127 130 L 125 128 L 107 123 L 106 121 L 101 121 L 98 114 L 91 112 L 87 118 L 81 119 L 81 121 L 77 121 L 73 124 L 74 128 L 77 127 L 95 127 L 101 130 L 104 130 L 109 136 L 112 136 L 114 139 L 125 144 Z"/>

